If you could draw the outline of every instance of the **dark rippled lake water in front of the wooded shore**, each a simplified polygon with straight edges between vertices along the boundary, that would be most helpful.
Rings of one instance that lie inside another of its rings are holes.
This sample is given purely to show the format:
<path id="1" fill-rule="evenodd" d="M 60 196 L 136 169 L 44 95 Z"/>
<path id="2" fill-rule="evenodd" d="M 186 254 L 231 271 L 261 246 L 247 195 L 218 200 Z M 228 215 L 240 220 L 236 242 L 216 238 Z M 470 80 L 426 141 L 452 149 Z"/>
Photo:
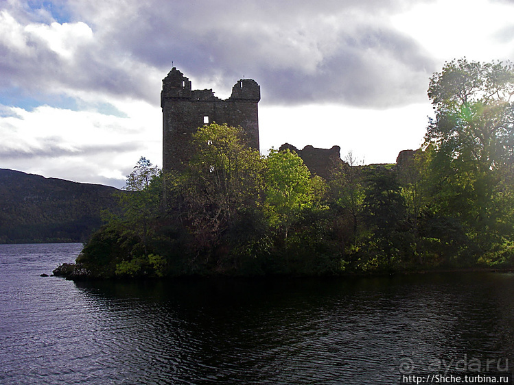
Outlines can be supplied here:
<path id="1" fill-rule="evenodd" d="M 510 273 L 39 276 L 80 248 L 0 245 L 0 384 L 399 384 L 401 373 L 514 362 Z"/>

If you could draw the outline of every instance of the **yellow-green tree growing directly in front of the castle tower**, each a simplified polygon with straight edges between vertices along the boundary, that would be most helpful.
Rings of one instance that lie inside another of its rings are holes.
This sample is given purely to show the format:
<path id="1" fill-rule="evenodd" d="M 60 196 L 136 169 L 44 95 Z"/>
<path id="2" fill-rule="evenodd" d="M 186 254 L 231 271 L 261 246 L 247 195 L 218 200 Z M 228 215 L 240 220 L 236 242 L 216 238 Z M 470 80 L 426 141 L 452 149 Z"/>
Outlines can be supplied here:
<path id="1" fill-rule="evenodd" d="M 167 216 L 176 216 L 194 236 L 192 262 L 205 264 L 218 253 L 215 263 L 221 264 L 226 234 L 259 205 L 263 163 L 240 127 L 205 125 L 191 140 L 193 156 L 185 170 L 165 175 Z M 202 253 L 205 259 L 196 261 Z"/>

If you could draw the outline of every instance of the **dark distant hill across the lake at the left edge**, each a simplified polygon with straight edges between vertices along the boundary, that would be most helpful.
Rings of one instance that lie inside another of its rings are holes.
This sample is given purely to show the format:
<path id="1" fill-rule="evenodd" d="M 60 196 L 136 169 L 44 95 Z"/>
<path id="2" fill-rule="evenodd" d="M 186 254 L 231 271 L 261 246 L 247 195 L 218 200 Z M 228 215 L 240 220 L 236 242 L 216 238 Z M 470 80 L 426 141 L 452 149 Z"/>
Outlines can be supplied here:
<path id="1" fill-rule="evenodd" d="M 0 169 L 0 243 L 84 242 L 117 188 Z"/>

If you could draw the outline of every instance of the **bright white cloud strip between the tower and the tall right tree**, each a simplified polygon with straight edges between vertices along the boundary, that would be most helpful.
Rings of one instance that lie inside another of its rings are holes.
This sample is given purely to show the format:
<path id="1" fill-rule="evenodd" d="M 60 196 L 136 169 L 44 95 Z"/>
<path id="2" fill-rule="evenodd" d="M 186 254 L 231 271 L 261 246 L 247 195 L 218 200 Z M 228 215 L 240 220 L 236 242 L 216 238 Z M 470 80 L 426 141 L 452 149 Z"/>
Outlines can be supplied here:
<path id="1" fill-rule="evenodd" d="M 404 149 L 418 149 L 432 108 L 417 103 L 389 110 L 354 109 L 338 105 L 264 106 L 259 110 L 261 152 L 285 142 L 302 149 L 341 147 L 369 163 L 393 163 Z"/>

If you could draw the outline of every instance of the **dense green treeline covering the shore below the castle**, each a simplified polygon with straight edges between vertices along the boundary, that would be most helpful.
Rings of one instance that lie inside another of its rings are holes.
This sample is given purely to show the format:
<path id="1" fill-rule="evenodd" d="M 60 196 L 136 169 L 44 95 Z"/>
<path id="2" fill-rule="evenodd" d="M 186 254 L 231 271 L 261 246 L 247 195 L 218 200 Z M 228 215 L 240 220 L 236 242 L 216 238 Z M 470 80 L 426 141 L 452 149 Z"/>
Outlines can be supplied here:
<path id="1" fill-rule="evenodd" d="M 454 60 L 430 79 L 422 149 L 396 165 L 351 154 L 312 176 L 242 130 L 200 127 L 194 157 L 162 175 L 141 158 L 123 213 L 78 258 L 93 276 L 340 274 L 514 261 L 514 69 Z"/>

